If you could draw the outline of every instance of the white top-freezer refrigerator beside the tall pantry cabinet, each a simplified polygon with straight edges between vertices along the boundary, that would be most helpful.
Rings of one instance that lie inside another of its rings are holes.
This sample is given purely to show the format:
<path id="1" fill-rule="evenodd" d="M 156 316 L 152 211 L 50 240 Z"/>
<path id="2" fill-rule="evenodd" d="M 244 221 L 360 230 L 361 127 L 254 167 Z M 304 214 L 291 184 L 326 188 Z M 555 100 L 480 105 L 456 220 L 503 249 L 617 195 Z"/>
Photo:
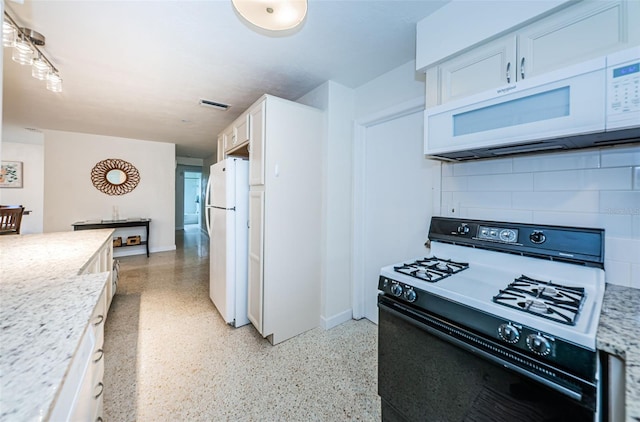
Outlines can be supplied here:
<path id="1" fill-rule="evenodd" d="M 249 161 L 227 158 L 211 166 L 206 194 L 209 296 L 234 327 L 247 317 Z"/>

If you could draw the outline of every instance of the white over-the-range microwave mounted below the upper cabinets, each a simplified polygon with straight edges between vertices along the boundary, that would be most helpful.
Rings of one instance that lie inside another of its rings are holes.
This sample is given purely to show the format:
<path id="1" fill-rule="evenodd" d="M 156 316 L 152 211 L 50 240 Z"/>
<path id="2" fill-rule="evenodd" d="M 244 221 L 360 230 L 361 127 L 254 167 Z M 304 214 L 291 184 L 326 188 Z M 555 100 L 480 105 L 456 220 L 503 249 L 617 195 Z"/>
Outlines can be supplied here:
<path id="1" fill-rule="evenodd" d="M 640 46 L 428 108 L 424 130 L 453 161 L 640 142 Z"/>

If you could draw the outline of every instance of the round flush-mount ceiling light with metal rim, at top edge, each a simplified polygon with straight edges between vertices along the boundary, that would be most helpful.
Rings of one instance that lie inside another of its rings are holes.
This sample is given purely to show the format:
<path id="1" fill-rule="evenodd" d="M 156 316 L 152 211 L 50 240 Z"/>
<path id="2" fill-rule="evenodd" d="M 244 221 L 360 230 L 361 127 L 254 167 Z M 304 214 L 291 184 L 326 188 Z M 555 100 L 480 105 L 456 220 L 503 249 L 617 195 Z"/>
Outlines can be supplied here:
<path id="1" fill-rule="evenodd" d="M 307 15 L 307 0 L 231 0 L 249 23 L 269 31 L 283 31 L 300 25 Z"/>

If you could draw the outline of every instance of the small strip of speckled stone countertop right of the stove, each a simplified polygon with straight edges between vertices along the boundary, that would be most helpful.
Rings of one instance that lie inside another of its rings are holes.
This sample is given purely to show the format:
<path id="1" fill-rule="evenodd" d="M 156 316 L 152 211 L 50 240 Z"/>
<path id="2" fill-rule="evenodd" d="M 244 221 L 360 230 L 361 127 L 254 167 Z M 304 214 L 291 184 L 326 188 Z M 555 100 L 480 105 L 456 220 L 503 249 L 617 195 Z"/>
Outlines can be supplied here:
<path id="1" fill-rule="evenodd" d="M 640 289 L 607 284 L 596 347 L 625 361 L 626 420 L 640 422 Z"/>

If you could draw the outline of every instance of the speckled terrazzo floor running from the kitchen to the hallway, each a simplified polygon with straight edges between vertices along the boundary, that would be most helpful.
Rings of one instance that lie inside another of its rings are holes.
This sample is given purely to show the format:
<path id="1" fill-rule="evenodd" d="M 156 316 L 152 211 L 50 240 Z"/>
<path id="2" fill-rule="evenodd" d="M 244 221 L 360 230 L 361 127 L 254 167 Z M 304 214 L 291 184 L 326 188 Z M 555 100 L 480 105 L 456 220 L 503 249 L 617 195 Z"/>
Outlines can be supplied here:
<path id="1" fill-rule="evenodd" d="M 120 258 L 105 327 L 106 421 L 379 421 L 377 328 L 316 328 L 277 346 L 222 321 L 208 239 Z"/>

